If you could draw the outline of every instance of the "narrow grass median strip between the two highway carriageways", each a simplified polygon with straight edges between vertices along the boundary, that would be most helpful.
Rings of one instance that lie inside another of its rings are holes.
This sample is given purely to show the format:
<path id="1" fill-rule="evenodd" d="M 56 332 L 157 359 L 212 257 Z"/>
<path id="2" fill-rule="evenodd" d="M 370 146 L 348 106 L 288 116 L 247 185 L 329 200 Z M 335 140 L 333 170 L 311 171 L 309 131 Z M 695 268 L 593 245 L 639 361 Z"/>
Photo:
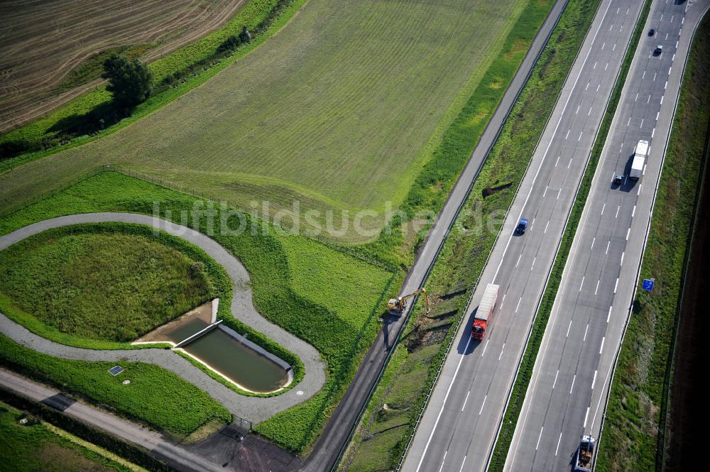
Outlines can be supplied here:
<path id="1" fill-rule="evenodd" d="M 577 232 L 577 225 L 579 224 L 579 219 L 581 218 L 582 211 L 584 210 L 586 197 L 591 188 L 591 181 L 594 179 L 594 172 L 596 172 L 596 166 L 599 163 L 601 150 L 603 149 L 606 136 L 609 128 L 611 127 L 613 116 L 616 113 L 616 107 L 618 106 L 619 99 L 621 99 L 621 89 L 626 81 L 628 70 L 631 67 L 631 61 L 633 60 L 636 45 L 638 45 L 638 41 L 643 34 L 643 27 L 645 25 L 646 17 L 648 16 L 648 12 L 650 11 L 650 7 L 651 1 L 646 0 L 643 8 L 641 9 L 640 17 L 636 23 L 633 35 L 631 35 L 630 44 L 621 64 L 618 79 L 611 92 L 611 97 L 606 107 L 606 113 L 603 116 L 601 126 L 599 127 L 599 133 L 596 136 L 594 147 L 591 150 L 589 162 L 587 163 L 584 176 L 582 177 L 581 183 L 577 190 L 577 197 L 574 200 L 572 210 L 569 213 L 567 225 L 565 226 L 564 234 L 562 234 L 562 240 L 560 241 L 559 248 L 557 250 L 557 256 L 555 257 L 555 263 L 552 265 L 550 278 L 547 281 L 545 292 L 542 294 L 540 307 L 538 308 L 537 315 L 535 316 L 535 323 L 532 325 L 530 339 L 528 339 L 528 345 L 525 347 L 523 360 L 520 361 L 518 375 L 515 378 L 515 383 L 513 384 L 513 391 L 510 393 L 510 401 L 508 402 L 508 407 L 503 415 L 501 431 L 498 434 L 498 440 L 496 441 L 496 446 L 493 449 L 493 456 L 489 467 L 490 471 L 502 471 L 503 466 L 505 466 L 506 457 L 508 456 L 508 449 L 510 449 L 510 441 L 513 440 L 515 425 L 518 422 L 518 416 L 520 416 L 520 410 L 523 407 L 525 393 L 528 390 L 528 383 L 530 383 L 530 376 L 532 375 L 532 368 L 535 366 L 535 358 L 537 358 L 537 351 L 540 348 L 542 336 L 545 334 L 547 320 L 550 319 L 550 312 L 552 311 L 552 304 L 555 302 L 559 282 L 562 280 L 562 272 L 564 271 L 565 263 L 567 263 L 569 249 L 572 247 L 574 234 Z"/>

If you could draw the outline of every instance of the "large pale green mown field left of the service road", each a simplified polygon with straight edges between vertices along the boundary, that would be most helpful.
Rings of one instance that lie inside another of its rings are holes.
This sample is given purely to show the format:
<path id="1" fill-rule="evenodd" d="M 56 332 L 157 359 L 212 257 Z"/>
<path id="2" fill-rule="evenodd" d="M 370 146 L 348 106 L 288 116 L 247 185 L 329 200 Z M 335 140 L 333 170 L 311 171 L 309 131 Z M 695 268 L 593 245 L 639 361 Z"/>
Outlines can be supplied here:
<path id="1" fill-rule="evenodd" d="M 396 206 L 527 5 L 311 0 L 278 35 L 140 125 L 0 175 L 0 201 L 112 163 L 242 208 L 296 199 L 324 218 Z"/>

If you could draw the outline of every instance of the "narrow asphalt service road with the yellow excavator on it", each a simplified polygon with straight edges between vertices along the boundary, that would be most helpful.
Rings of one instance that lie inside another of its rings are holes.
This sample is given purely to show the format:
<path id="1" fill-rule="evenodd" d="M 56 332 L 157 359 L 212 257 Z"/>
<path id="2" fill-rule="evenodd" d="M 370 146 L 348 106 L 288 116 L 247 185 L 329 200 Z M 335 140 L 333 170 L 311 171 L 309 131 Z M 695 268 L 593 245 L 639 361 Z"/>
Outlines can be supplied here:
<path id="1" fill-rule="evenodd" d="M 543 23 L 540 31 L 537 32 L 528 54 L 518 68 L 518 72 L 515 73 L 513 81 L 510 82 L 510 86 L 503 99 L 501 99 L 501 103 L 498 104 L 496 112 L 471 154 L 469 162 L 466 163 L 466 167 L 461 172 L 452 192 L 449 194 L 444 208 L 437 216 L 437 221 L 427 236 L 422 246 L 422 251 L 417 256 L 407 275 L 400 295 L 414 292 L 424 284 L 434 261 L 439 255 L 439 250 L 449 234 L 456 216 L 459 214 L 461 206 L 466 201 L 471 185 L 473 185 L 476 176 L 479 174 L 488 152 L 498 137 L 503 122 L 506 120 L 513 104 L 515 104 L 515 100 L 518 99 L 520 90 L 523 89 L 523 85 L 525 85 L 530 71 L 537 61 L 537 57 L 540 55 L 545 43 L 547 43 L 547 39 L 555 28 L 566 4 L 567 0 L 557 0 L 555 5 L 552 6 L 545 23 Z M 381 329 L 380 334 L 378 334 L 377 339 L 356 372 L 343 400 L 334 411 L 331 419 L 326 424 L 323 434 L 317 441 L 310 456 L 308 456 L 302 471 L 330 471 L 336 466 L 340 453 L 349 441 L 350 434 L 356 426 L 361 409 L 367 402 L 373 386 L 376 385 L 378 375 L 386 364 L 388 353 L 403 329 L 408 312 L 409 309 L 399 319 L 386 320 L 383 329 Z"/>

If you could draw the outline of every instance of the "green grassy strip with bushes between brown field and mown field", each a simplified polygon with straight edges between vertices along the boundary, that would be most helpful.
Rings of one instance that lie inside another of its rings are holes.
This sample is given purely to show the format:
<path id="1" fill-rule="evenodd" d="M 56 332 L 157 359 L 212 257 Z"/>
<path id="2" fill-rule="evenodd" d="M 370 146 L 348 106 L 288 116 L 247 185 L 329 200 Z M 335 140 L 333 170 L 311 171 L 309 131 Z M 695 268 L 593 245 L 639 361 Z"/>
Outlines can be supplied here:
<path id="1" fill-rule="evenodd" d="M 151 114 L 156 109 L 170 103 L 185 94 L 190 89 L 194 89 L 204 83 L 217 72 L 224 69 L 239 57 L 251 52 L 258 45 L 268 39 L 273 33 L 283 26 L 300 9 L 306 0 L 247 0 L 246 4 L 231 18 L 224 26 L 205 35 L 203 38 L 173 51 L 160 59 L 151 62 L 148 67 L 153 72 L 156 83 L 160 83 L 166 77 L 187 72 L 174 87 L 165 89 L 159 94 L 155 94 L 145 103 L 140 104 L 133 110 L 129 118 L 120 121 L 114 126 L 100 131 L 94 136 L 76 136 L 71 138 L 72 124 L 81 119 L 82 116 L 90 114 L 92 110 L 99 109 L 111 101 L 111 94 L 106 87 L 98 87 L 80 97 L 72 99 L 67 104 L 51 111 L 48 115 L 40 117 L 28 124 L 16 128 L 0 137 L 0 146 L 8 146 L 17 143 L 18 146 L 28 148 L 42 148 L 36 152 L 25 153 L 16 158 L 0 161 L 0 172 L 9 170 L 16 165 L 21 165 L 30 160 L 34 160 L 44 155 L 57 152 L 60 149 L 73 148 L 89 141 L 94 141 L 101 136 L 114 133 L 124 126 Z M 229 57 L 214 58 L 209 63 L 197 67 L 193 65 L 212 57 L 220 44 L 230 35 L 238 35 L 242 26 L 247 26 L 253 33 L 253 40 L 249 45 L 241 45 L 236 53 Z M 141 53 L 142 47 L 138 48 L 116 48 L 116 52 L 124 53 L 129 57 L 134 57 Z M 60 84 L 59 89 L 71 88 L 82 81 L 93 77 L 97 68 L 102 67 L 97 61 L 105 54 L 90 58 L 87 62 L 78 67 L 67 76 L 65 82 Z M 66 135 L 65 133 L 69 133 Z M 61 144 L 60 141 L 70 141 Z M 1 157 L 1 156 L 0 156 Z"/>

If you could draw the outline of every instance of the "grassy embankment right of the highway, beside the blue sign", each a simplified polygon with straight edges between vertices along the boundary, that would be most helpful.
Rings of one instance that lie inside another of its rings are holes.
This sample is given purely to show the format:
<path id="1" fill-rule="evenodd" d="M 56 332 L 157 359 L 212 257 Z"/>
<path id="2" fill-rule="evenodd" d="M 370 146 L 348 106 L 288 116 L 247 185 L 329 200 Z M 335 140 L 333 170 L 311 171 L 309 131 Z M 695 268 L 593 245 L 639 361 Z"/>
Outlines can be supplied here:
<path id="1" fill-rule="evenodd" d="M 674 331 L 697 202 L 710 139 L 710 17 L 697 30 L 653 209 L 640 278 L 655 278 L 653 292 L 640 290 L 621 346 L 598 471 L 657 471 L 667 415 Z M 702 223 L 700 223 L 702 224 Z M 697 314 L 701 316 L 701 314 Z"/>

